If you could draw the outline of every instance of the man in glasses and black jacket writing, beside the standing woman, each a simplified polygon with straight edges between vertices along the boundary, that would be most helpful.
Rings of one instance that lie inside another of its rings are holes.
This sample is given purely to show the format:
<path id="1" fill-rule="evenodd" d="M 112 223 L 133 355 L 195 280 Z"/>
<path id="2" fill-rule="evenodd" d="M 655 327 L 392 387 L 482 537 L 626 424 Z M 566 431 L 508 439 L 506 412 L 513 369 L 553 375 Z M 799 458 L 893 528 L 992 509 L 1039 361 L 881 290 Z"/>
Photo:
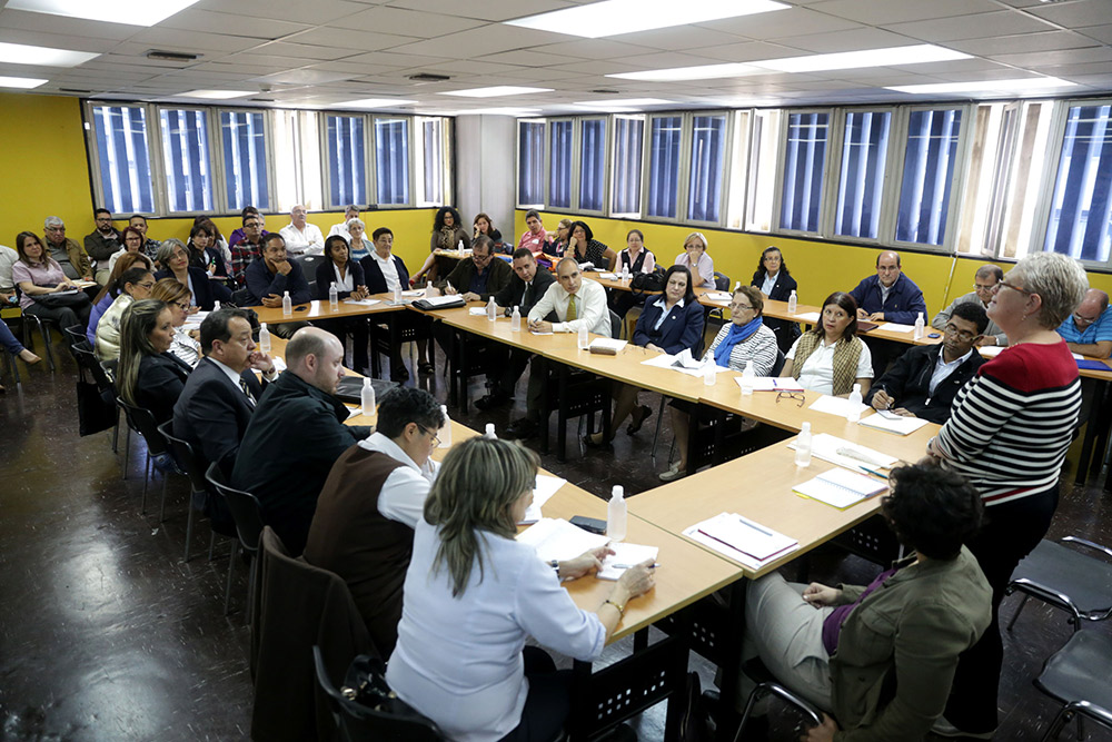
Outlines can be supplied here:
<path id="1" fill-rule="evenodd" d="M 868 389 L 865 403 L 903 417 L 945 423 L 957 390 L 976 375 L 986 359 L 976 344 L 989 317 L 976 303 L 959 304 L 937 345 L 917 345 L 892 365 Z"/>

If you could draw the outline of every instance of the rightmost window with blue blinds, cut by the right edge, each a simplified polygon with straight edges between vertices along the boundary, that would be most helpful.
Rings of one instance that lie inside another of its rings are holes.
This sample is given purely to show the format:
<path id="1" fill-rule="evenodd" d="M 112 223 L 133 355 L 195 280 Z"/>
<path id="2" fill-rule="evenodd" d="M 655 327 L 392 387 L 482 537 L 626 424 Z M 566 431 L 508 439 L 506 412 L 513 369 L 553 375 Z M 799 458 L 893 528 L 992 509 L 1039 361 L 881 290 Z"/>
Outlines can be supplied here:
<path id="1" fill-rule="evenodd" d="M 1112 238 L 1112 106 L 1072 106 L 1066 115 L 1043 249 L 1080 260 L 1109 259 Z"/>

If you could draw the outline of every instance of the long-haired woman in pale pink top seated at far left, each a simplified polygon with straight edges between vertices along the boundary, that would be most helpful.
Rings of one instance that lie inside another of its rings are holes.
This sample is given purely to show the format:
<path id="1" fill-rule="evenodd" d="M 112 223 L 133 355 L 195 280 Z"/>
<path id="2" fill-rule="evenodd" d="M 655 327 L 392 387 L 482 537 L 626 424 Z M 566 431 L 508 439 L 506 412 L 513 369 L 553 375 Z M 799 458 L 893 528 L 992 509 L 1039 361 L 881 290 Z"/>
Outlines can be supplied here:
<path id="1" fill-rule="evenodd" d="M 49 319 L 59 328 L 88 326 L 92 303 L 78 290 L 58 261 L 47 255 L 42 240 L 29 231 L 16 235 L 19 260 L 11 267 L 11 278 L 23 295 L 19 306 L 26 314 Z"/>

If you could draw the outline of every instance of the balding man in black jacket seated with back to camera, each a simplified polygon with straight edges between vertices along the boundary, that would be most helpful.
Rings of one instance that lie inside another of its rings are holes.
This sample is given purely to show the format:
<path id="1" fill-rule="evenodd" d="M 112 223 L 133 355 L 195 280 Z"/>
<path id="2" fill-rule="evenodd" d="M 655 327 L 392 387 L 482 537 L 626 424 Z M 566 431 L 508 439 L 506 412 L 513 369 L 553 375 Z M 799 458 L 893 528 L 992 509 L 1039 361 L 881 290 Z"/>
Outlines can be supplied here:
<path id="1" fill-rule="evenodd" d="M 286 370 L 256 406 L 232 468 L 231 486 L 259 498 L 264 522 L 291 556 L 305 548 L 332 464 L 370 434 L 344 424 L 348 409 L 335 396 L 342 364 L 344 346 L 332 335 L 297 330 L 286 346 Z"/>

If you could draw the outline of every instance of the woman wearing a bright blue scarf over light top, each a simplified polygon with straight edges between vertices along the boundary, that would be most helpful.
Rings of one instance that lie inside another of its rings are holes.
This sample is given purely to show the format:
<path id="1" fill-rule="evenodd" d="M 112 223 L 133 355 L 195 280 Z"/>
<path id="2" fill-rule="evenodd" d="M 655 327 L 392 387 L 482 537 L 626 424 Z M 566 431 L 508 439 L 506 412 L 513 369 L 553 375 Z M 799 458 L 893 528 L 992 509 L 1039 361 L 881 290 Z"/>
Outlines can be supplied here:
<path id="1" fill-rule="evenodd" d="M 729 303 L 729 323 L 723 326 L 714 343 L 703 355 L 703 360 L 714 358 L 714 363 L 731 370 L 745 370 L 745 364 L 753 362 L 757 376 L 770 376 L 776 365 L 776 334 L 762 320 L 764 298 L 752 286 L 738 286 Z M 672 403 L 672 428 L 676 434 L 679 461 L 667 471 L 661 472 L 662 482 L 672 482 L 687 474 L 687 436 L 691 434 L 691 405 Z"/>

